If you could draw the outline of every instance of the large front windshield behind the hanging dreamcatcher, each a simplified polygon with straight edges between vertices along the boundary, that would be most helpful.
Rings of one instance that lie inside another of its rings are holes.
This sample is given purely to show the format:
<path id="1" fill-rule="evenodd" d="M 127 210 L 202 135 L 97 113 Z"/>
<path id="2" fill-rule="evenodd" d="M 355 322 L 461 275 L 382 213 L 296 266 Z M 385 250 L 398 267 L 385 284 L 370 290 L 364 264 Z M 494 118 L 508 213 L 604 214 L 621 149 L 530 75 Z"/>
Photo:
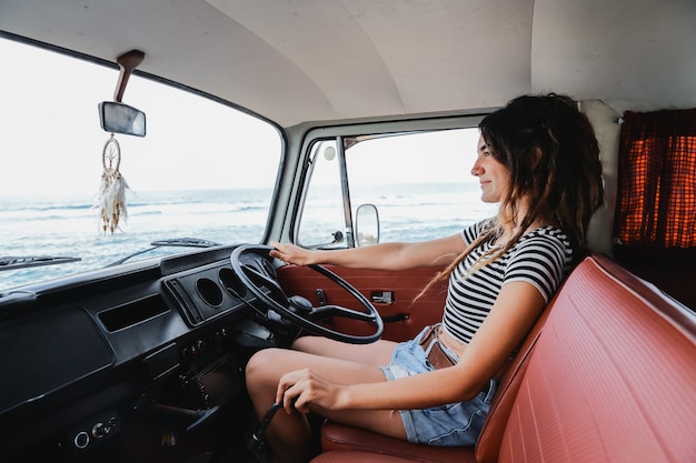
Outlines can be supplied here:
<path id="1" fill-rule="evenodd" d="M 274 125 L 132 76 L 122 101 L 147 114 L 147 134 L 115 135 L 127 188 L 111 232 L 98 103 L 113 99 L 119 71 L 2 38 L 0 56 L 21 63 L 0 85 L 0 291 L 262 239 L 281 153 Z"/>

